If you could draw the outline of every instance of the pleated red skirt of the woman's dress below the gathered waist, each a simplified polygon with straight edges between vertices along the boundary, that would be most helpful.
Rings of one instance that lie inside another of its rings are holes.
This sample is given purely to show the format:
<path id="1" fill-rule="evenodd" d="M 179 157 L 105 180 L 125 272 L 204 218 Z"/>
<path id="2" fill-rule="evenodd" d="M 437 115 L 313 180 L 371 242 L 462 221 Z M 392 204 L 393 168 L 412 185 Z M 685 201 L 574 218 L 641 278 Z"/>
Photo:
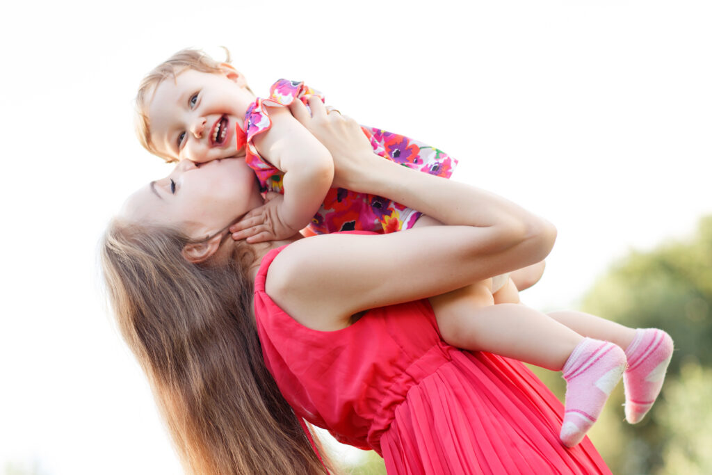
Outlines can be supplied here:
<path id="1" fill-rule="evenodd" d="M 525 365 L 454 351 L 412 387 L 381 437 L 389 475 L 610 474 L 586 437 L 567 449 L 563 407 Z"/>

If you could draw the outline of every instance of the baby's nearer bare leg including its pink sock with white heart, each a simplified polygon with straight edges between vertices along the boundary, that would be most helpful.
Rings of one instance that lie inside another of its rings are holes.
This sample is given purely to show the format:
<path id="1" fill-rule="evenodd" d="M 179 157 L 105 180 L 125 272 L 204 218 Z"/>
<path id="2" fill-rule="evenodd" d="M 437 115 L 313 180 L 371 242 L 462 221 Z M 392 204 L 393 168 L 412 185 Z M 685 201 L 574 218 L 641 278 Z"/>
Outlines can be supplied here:
<path id="1" fill-rule="evenodd" d="M 560 438 L 581 442 L 625 368 L 617 345 L 584 338 L 544 313 L 518 303 L 493 302 L 488 281 L 431 297 L 443 339 L 466 350 L 513 357 L 550 370 L 567 382 Z"/>

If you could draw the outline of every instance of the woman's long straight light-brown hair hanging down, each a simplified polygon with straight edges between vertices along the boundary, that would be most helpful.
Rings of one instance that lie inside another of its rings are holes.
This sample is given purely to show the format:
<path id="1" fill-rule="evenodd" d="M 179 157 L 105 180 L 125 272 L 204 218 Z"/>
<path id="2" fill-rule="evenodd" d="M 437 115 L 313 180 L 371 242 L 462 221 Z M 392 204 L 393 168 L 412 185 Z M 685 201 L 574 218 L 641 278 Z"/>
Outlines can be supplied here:
<path id="1" fill-rule="evenodd" d="M 115 219 L 101 249 L 118 327 L 146 372 L 184 468 L 324 473 L 263 362 L 244 266 L 254 256 L 238 255 L 234 246 L 233 259 L 198 266 L 182 256 L 186 242 L 174 231 Z"/>

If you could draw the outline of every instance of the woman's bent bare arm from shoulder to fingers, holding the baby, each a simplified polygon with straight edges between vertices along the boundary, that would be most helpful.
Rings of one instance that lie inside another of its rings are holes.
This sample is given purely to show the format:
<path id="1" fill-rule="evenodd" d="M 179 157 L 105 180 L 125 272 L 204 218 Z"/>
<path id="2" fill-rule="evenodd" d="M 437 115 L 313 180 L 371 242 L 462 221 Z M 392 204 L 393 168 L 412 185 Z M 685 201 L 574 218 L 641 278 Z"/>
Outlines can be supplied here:
<path id="1" fill-rule="evenodd" d="M 360 127 L 323 105 L 292 113 L 334 158 L 335 183 L 419 209 L 444 224 L 377 236 L 302 239 L 275 259 L 268 294 L 318 330 L 348 325 L 360 310 L 452 291 L 544 259 L 554 227 L 516 204 L 466 184 L 384 160 Z"/>

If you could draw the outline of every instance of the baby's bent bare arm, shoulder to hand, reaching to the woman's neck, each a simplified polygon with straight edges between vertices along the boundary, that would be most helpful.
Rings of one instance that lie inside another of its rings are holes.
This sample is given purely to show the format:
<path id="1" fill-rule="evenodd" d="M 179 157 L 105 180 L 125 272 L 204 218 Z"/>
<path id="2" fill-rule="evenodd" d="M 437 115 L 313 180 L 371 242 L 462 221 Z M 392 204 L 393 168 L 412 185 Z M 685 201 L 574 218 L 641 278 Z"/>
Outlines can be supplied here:
<path id="1" fill-rule="evenodd" d="M 270 108 L 269 115 L 271 128 L 257 135 L 254 144 L 262 157 L 284 173 L 284 196 L 271 199 L 251 212 L 265 218 L 266 225 L 258 231 L 245 221 L 231 226 L 234 239 L 247 237 L 251 243 L 297 234 L 318 211 L 334 177 L 329 151 L 287 108 Z"/>

